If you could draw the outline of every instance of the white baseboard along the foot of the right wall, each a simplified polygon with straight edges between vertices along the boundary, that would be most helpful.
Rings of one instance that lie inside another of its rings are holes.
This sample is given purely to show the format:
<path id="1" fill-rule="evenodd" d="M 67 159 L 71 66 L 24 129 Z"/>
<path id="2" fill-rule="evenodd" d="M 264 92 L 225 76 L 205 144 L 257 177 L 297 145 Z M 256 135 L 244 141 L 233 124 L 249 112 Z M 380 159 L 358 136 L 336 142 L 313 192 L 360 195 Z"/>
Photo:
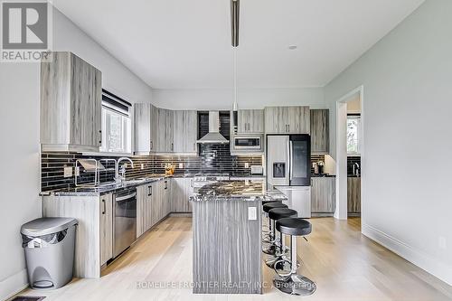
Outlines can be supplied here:
<path id="1" fill-rule="evenodd" d="M 401 240 L 397 240 L 391 235 L 388 235 L 381 230 L 375 229 L 372 226 L 363 224 L 363 235 L 371 240 L 375 240 L 383 247 L 391 249 L 403 259 L 407 259 L 412 264 L 424 269 L 429 274 L 438 277 L 438 279 L 446 282 L 452 286 L 452 267 L 444 262 L 434 259 L 428 254 L 418 249 L 412 248 L 410 245 Z"/>

